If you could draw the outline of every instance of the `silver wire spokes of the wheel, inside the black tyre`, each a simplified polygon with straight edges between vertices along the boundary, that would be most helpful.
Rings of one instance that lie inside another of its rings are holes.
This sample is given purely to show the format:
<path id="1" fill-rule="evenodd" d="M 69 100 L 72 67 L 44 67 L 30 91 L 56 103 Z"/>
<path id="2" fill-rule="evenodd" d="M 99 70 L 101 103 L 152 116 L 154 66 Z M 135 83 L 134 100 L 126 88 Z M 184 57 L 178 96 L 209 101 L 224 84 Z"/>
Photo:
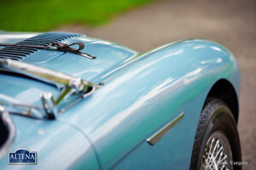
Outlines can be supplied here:
<path id="1" fill-rule="evenodd" d="M 212 133 L 204 150 L 201 170 L 233 170 L 231 161 L 232 152 L 227 137 L 221 131 Z"/>

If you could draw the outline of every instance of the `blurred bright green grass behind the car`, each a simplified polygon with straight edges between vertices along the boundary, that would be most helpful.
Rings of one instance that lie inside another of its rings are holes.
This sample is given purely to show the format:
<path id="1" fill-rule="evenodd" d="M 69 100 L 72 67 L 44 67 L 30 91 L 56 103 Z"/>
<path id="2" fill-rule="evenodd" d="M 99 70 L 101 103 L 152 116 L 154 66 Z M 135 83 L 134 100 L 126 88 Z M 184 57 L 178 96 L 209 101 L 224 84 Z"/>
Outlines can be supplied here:
<path id="1" fill-rule="evenodd" d="M 99 26 L 154 0 L 1 0 L 0 30 L 49 31 L 63 24 Z"/>

